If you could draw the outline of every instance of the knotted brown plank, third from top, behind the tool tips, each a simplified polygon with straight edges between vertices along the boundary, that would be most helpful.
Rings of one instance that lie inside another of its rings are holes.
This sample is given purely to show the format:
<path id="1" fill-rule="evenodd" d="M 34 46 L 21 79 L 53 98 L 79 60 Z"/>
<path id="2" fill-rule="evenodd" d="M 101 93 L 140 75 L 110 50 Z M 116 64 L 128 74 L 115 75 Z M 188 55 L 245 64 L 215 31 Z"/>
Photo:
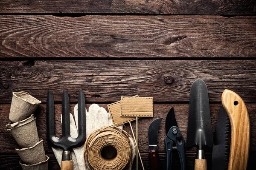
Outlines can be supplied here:
<path id="1" fill-rule="evenodd" d="M 210 102 L 220 102 L 224 89 L 245 102 L 256 101 L 256 60 L 144 61 L 0 61 L 0 102 L 13 91 L 27 91 L 46 102 L 52 90 L 61 101 L 68 90 L 76 102 L 79 89 L 87 102 L 115 102 L 120 96 L 149 96 L 155 102 L 188 102 L 190 88 L 203 79 Z"/>

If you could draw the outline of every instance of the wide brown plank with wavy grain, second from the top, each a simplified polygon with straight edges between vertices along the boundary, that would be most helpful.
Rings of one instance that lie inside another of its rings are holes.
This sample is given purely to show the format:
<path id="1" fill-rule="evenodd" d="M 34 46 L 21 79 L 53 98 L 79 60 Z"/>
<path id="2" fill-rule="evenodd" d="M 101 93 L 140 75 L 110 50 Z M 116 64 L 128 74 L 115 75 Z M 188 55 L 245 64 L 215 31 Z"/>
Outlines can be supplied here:
<path id="1" fill-rule="evenodd" d="M 256 57 L 256 16 L 2 15 L 0 57 Z"/>

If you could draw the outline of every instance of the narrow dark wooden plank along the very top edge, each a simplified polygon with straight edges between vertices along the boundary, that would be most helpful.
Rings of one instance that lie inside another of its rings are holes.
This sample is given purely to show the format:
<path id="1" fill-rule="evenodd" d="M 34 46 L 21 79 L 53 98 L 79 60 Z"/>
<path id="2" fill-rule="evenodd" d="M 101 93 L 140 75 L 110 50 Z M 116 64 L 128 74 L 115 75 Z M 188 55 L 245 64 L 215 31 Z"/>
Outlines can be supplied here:
<path id="1" fill-rule="evenodd" d="M 254 0 L 2 0 L 0 13 L 255 14 Z"/>

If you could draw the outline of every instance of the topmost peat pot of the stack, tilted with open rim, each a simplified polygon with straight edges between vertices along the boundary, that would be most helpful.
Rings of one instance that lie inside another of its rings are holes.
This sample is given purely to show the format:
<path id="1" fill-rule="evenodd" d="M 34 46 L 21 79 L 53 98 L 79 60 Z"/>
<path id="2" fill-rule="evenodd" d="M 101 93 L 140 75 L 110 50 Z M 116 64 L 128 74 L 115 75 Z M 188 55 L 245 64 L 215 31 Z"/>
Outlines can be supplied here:
<path id="1" fill-rule="evenodd" d="M 40 103 L 40 100 L 25 91 L 12 92 L 12 104 L 9 119 L 12 122 L 26 119 L 29 115 L 35 112 Z"/>

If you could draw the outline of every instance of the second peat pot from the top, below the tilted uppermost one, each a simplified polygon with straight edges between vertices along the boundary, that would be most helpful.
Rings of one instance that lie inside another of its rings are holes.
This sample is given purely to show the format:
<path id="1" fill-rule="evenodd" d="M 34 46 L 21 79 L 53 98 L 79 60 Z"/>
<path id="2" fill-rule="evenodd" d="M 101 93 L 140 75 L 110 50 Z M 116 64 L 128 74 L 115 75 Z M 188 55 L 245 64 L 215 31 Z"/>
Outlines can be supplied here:
<path id="1" fill-rule="evenodd" d="M 35 124 L 35 116 L 6 125 L 7 130 L 11 131 L 12 136 L 21 148 L 32 147 L 39 142 L 38 131 Z"/>

